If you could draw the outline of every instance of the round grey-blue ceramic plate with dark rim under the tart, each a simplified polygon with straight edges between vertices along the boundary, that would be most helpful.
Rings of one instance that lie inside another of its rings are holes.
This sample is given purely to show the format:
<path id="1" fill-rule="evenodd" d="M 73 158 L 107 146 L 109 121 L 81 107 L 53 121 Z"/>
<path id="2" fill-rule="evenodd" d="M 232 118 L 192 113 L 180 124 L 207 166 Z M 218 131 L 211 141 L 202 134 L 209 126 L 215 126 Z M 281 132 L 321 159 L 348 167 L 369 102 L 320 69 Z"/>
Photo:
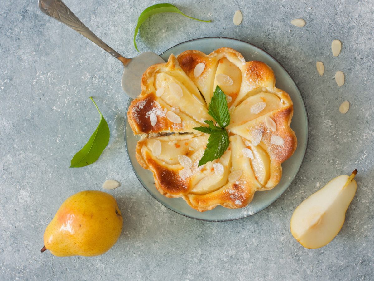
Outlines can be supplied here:
<path id="1" fill-rule="evenodd" d="M 178 55 L 186 50 L 199 50 L 209 54 L 215 49 L 221 47 L 230 47 L 239 51 L 246 61 L 259 60 L 269 65 L 276 78 L 276 87 L 286 91 L 294 102 L 294 116 L 291 122 L 291 128 L 295 131 L 297 137 L 297 149 L 295 153 L 282 164 L 283 175 L 279 184 L 269 191 L 257 191 L 254 199 L 245 208 L 227 209 L 217 206 L 211 211 L 198 212 L 187 205 L 181 198 L 167 198 L 157 191 L 154 186 L 152 172 L 143 169 L 135 158 L 135 146 L 138 137 L 135 137 L 126 117 L 125 121 L 125 141 L 129 160 L 132 164 L 135 174 L 144 188 L 167 208 L 186 217 L 205 220 L 205 221 L 229 221 L 245 218 L 253 215 L 271 203 L 273 203 L 288 188 L 295 176 L 297 175 L 301 163 L 303 162 L 308 141 L 308 117 L 303 98 L 295 82 L 289 76 L 288 72 L 281 66 L 278 61 L 262 49 L 249 43 L 221 37 L 209 37 L 194 39 L 180 43 L 161 54 L 161 57 L 167 61 L 170 54 Z M 128 106 L 132 99 L 129 99 Z"/>

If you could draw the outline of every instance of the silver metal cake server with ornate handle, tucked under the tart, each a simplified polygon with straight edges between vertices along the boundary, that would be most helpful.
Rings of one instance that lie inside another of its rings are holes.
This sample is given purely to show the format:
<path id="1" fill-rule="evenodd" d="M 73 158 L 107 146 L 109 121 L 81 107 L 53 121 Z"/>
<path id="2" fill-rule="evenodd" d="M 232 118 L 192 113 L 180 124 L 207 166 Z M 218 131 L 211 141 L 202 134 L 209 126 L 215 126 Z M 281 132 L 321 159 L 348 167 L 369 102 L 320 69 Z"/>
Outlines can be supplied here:
<path id="1" fill-rule="evenodd" d="M 123 57 L 89 30 L 61 0 L 39 0 L 39 8 L 46 15 L 73 28 L 109 54 L 113 55 L 113 57 L 122 61 L 124 67 L 121 80 L 122 89 L 133 99 L 141 93 L 140 82 L 144 71 L 152 64 L 165 63 L 165 61 L 154 52 L 144 52 L 135 58 Z"/>

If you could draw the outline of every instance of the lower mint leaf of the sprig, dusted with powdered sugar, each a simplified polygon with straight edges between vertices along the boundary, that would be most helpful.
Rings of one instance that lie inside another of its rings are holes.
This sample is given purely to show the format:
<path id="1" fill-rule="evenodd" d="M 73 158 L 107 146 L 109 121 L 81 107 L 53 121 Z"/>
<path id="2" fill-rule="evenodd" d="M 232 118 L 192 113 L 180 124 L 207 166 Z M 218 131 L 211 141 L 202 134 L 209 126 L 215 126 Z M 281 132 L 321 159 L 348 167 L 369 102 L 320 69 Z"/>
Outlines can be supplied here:
<path id="1" fill-rule="evenodd" d="M 220 130 L 212 130 L 208 138 L 208 144 L 206 145 L 204 155 L 199 161 L 199 166 L 220 158 L 229 147 L 229 143 L 229 134 L 225 129 L 220 128 Z"/>

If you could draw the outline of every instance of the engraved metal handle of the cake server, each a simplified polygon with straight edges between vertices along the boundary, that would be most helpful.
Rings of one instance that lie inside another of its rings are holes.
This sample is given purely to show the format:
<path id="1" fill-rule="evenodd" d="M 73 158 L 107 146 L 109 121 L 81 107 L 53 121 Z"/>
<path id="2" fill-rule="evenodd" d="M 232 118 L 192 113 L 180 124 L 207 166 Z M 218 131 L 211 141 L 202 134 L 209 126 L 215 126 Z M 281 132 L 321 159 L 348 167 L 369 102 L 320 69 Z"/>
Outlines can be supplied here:
<path id="1" fill-rule="evenodd" d="M 122 61 L 124 66 L 130 62 L 131 58 L 123 57 L 118 52 L 110 48 L 110 46 L 105 44 L 99 37 L 89 30 L 82 21 L 79 20 L 79 18 L 77 18 L 77 16 L 74 15 L 74 13 L 71 12 L 71 10 L 61 0 L 39 0 L 39 9 L 46 15 L 57 19 L 91 40 L 109 54 L 113 55 L 113 57 Z"/>

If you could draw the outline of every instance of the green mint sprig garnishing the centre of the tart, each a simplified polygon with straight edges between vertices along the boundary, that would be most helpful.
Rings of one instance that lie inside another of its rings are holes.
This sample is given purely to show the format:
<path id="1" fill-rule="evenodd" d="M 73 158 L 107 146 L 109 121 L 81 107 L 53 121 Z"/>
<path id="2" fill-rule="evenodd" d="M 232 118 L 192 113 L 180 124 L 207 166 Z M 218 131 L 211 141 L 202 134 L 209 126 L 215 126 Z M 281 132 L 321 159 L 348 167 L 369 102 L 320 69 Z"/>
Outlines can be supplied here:
<path id="1" fill-rule="evenodd" d="M 214 126 L 211 120 L 205 120 L 204 122 L 208 124 L 209 127 L 193 128 L 197 131 L 210 134 L 203 157 L 199 160 L 199 166 L 220 158 L 225 153 L 230 143 L 229 134 L 226 129 L 224 129 L 230 124 L 230 112 L 227 106 L 226 95 L 218 86 L 214 90 L 213 97 L 209 104 L 208 114 L 214 118 L 220 127 Z"/>

